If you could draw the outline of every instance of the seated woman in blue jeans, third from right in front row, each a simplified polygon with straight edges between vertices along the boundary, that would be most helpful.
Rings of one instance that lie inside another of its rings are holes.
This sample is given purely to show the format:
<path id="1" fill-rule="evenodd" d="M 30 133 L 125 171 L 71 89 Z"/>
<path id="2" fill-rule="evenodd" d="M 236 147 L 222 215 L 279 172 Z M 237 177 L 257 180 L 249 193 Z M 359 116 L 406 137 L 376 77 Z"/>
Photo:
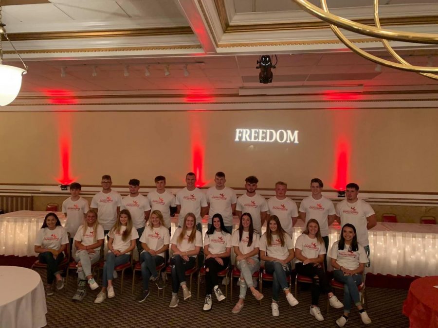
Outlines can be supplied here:
<path id="1" fill-rule="evenodd" d="M 265 271 L 273 275 L 272 282 L 272 315 L 280 315 L 278 296 L 283 290 L 290 306 L 298 301 L 289 291 L 287 276 L 291 274 L 291 261 L 295 257 L 291 237 L 283 230 L 276 215 L 268 221 L 266 232 L 260 238 L 260 259 L 265 261 Z"/>

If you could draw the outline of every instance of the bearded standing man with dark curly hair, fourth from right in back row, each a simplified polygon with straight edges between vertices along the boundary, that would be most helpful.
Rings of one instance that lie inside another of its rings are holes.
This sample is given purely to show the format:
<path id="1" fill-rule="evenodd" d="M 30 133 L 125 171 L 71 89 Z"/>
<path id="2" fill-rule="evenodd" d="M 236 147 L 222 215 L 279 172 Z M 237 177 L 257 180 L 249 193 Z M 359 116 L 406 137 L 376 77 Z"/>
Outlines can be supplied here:
<path id="1" fill-rule="evenodd" d="M 253 217 L 254 230 L 261 234 L 261 227 L 268 216 L 268 203 L 266 199 L 256 193 L 258 179 L 250 175 L 245 179 L 246 192 L 237 198 L 236 215 L 240 218 L 242 213 L 250 213 Z"/>

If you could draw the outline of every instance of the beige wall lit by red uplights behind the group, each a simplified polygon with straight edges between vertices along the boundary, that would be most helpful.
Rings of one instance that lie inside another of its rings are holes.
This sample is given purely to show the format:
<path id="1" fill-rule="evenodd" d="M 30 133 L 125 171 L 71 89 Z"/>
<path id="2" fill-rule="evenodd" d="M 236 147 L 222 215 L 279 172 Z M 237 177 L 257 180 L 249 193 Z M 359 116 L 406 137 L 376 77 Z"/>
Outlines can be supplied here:
<path id="1" fill-rule="evenodd" d="M 64 140 L 71 175 L 83 184 L 107 173 L 115 185 L 136 177 L 150 186 L 163 174 L 180 186 L 198 148 L 209 184 L 220 170 L 231 187 L 255 174 L 260 188 L 284 180 L 306 189 L 318 176 L 333 189 L 344 144 L 347 180 L 361 190 L 437 192 L 437 122 L 431 109 L 7 112 L 0 113 L 0 183 L 56 184 Z M 236 143 L 236 128 L 299 130 L 299 144 Z"/>

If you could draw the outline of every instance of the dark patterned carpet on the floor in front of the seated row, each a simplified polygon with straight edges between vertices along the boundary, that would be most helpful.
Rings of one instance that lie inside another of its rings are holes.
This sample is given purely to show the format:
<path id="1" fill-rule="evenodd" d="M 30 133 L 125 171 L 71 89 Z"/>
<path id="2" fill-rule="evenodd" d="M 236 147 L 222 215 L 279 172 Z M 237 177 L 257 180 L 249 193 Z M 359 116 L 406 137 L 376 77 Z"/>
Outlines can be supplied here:
<path id="1" fill-rule="evenodd" d="M 45 272 L 39 270 L 43 281 Z M 262 304 L 254 299 L 248 292 L 247 300 L 242 311 L 238 314 L 231 313 L 231 309 L 237 302 L 238 286 L 234 280 L 233 301 L 228 298 L 220 303 L 214 299 L 211 311 L 202 311 L 204 286 L 201 285 L 200 299 L 196 299 L 196 279 L 192 286 L 192 297 L 183 301 L 180 295 L 180 303 L 177 308 L 169 308 L 171 288 L 165 288 L 164 298 L 157 296 L 157 288 L 151 285 L 151 293 L 143 303 L 137 303 L 135 296 L 141 290 L 139 273 L 136 276 L 134 286 L 135 295 L 131 294 L 132 276 L 125 276 L 123 294 L 120 293 L 120 277 L 115 279 L 114 290 L 116 296 L 106 299 L 101 304 L 94 304 L 100 288 L 96 291 L 87 290 L 85 299 L 76 303 L 72 296 L 76 290 L 76 279 L 70 276 L 66 287 L 56 291 L 55 295 L 48 296 L 47 300 L 47 327 L 337 327 L 335 321 L 342 315 L 342 309 L 329 309 L 327 314 L 326 298 L 321 296 L 321 312 L 325 320 L 317 321 L 309 314 L 310 290 L 303 286 L 298 292 L 299 304 L 291 308 L 282 295 L 279 302 L 280 316 L 273 317 L 271 314 L 271 285 L 265 282 L 263 293 L 265 298 Z M 170 278 L 170 277 L 169 277 Z M 101 279 L 97 280 L 101 284 Z M 300 289 L 300 288 L 299 288 Z M 222 286 L 225 294 L 225 288 Z M 229 291 L 228 291 L 229 292 Z M 181 292 L 180 292 L 181 293 Z M 336 290 L 335 294 L 342 301 L 342 291 Z M 367 288 L 368 300 L 367 312 L 372 320 L 372 327 L 409 327 L 408 319 L 402 314 L 402 303 L 406 298 L 407 291 L 383 288 Z M 345 327 L 366 327 L 362 324 L 357 310 L 352 310 L 350 319 Z"/>

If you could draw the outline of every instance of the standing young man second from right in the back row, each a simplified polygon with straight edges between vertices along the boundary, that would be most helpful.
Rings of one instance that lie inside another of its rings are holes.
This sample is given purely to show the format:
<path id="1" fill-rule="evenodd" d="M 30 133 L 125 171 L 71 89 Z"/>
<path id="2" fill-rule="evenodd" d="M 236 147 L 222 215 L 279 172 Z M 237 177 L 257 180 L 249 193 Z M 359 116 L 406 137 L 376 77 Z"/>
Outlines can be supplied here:
<path id="1" fill-rule="evenodd" d="M 310 180 L 310 191 L 312 194 L 301 201 L 300 218 L 306 224 L 310 219 L 315 219 L 319 223 L 321 237 L 326 246 L 324 265 L 327 269 L 327 253 L 329 252 L 329 226 L 336 218 L 336 211 L 333 202 L 322 195 L 324 184 L 321 179 L 313 178 Z"/>

